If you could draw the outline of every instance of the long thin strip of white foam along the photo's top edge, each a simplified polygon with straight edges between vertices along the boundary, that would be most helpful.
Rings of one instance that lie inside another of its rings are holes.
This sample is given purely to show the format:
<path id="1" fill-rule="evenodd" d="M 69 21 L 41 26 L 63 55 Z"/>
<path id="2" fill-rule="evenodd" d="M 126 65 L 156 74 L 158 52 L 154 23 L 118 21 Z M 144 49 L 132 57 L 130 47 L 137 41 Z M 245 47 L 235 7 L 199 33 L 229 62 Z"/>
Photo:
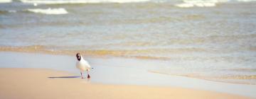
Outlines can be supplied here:
<path id="1" fill-rule="evenodd" d="M 21 0 L 28 4 L 97 4 L 97 3 L 132 3 L 149 0 Z"/>

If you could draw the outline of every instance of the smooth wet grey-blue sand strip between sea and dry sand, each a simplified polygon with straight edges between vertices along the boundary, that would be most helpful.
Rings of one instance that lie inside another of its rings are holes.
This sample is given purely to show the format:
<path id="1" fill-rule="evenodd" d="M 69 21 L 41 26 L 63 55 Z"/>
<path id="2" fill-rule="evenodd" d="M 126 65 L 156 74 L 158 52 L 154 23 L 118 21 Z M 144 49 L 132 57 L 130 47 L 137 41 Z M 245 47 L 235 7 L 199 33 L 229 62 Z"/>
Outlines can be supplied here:
<path id="1" fill-rule="evenodd" d="M 80 76 L 80 71 L 75 68 L 75 58 L 68 55 L 0 52 L 0 68 L 26 68 L 26 69 L 52 69 L 66 71 L 73 76 Z M 95 58 L 85 57 L 94 67 L 90 72 L 91 83 L 120 86 L 156 86 L 192 88 L 203 91 L 228 93 L 256 98 L 256 86 L 237 83 L 223 83 L 208 81 L 186 76 L 171 76 L 155 74 L 148 70 L 154 69 L 150 61 L 120 58 Z M 157 64 L 155 64 L 157 65 Z"/>

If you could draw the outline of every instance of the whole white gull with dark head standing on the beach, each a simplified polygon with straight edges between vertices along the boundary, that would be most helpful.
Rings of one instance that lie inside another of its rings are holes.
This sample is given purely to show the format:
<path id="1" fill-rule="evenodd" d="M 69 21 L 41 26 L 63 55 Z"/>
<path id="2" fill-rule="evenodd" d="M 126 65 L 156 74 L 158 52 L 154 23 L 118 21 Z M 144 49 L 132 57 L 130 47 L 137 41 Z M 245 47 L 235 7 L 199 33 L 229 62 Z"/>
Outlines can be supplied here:
<path id="1" fill-rule="evenodd" d="M 89 75 L 89 71 L 91 69 L 90 64 L 87 61 L 85 61 L 85 59 L 82 58 L 82 55 L 80 53 L 77 53 L 76 57 L 78 59 L 78 62 L 76 63 L 76 67 L 80 69 L 81 77 L 82 77 L 82 73 L 86 70 L 87 78 L 90 78 L 90 75 Z"/>

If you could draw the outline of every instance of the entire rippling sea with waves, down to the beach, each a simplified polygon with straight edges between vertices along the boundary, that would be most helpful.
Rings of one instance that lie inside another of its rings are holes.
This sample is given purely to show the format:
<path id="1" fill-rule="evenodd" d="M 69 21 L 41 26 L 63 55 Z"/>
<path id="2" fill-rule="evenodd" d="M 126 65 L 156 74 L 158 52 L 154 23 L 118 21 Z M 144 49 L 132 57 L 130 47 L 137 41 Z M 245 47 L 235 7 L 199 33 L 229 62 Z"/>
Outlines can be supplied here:
<path id="1" fill-rule="evenodd" d="M 0 51 L 149 60 L 151 73 L 255 85 L 256 0 L 0 0 Z"/>

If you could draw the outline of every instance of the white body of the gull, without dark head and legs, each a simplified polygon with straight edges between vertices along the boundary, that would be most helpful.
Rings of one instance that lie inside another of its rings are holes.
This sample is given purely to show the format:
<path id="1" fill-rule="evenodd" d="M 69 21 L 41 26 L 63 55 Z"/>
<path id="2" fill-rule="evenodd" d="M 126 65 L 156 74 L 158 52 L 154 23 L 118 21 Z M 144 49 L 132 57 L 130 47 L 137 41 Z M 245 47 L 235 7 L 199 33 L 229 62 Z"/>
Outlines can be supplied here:
<path id="1" fill-rule="evenodd" d="M 83 71 L 90 71 L 90 69 L 91 69 L 90 64 L 87 61 L 85 61 L 85 59 L 83 59 L 82 56 L 81 56 L 80 61 L 78 61 L 76 63 L 76 67 L 78 69 L 80 69 L 81 72 L 83 72 Z"/>

